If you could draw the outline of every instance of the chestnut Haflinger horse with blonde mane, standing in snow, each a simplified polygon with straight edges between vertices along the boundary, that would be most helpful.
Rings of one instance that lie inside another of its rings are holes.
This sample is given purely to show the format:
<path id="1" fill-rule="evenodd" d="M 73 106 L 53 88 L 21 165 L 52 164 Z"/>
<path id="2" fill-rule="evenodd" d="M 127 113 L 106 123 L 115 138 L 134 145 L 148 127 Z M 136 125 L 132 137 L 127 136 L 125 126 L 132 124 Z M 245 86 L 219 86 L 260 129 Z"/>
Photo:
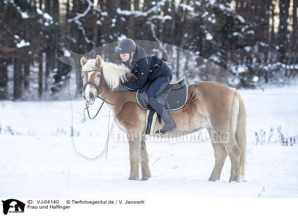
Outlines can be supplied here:
<path id="1" fill-rule="evenodd" d="M 139 179 L 140 163 L 142 180 L 148 180 L 151 173 L 145 142 L 147 110 L 137 104 L 136 91 L 115 91 L 120 83 L 134 80 L 133 73 L 120 65 L 103 61 L 100 55 L 88 60 L 82 57 L 80 63 L 84 85 L 83 98 L 86 104 L 92 105 L 97 96 L 116 104 L 107 105 L 113 111 L 116 122 L 118 121 L 127 133 L 130 155 L 129 179 Z M 220 179 L 228 155 L 231 162 L 229 182 L 244 181 L 246 110 L 239 92 L 215 82 L 199 82 L 187 87 L 187 103 L 183 108 L 172 111 L 177 130 L 166 134 L 182 136 L 206 128 L 215 156 L 215 165 L 209 180 Z M 157 129 L 158 123 L 155 123 L 154 131 Z"/>

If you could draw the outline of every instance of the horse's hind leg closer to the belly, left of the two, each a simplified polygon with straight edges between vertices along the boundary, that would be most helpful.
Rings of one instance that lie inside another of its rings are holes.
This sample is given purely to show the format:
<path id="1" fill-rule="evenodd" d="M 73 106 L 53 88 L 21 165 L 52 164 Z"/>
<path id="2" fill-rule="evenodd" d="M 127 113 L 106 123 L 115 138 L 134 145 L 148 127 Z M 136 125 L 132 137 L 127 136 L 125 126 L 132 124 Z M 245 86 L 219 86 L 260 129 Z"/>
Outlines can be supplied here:
<path id="1" fill-rule="evenodd" d="M 221 177 L 227 152 L 222 143 L 215 141 L 215 137 L 212 136 L 212 134 L 210 133 L 210 130 L 208 130 L 208 132 L 211 137 L 211 142 L 214 149 L 214 157 L 215 157 L 215 164 L 214 164 L 213 171 L 209 177 L 209 181 L 216 181 L 216 180 L 219 180 Z"/>

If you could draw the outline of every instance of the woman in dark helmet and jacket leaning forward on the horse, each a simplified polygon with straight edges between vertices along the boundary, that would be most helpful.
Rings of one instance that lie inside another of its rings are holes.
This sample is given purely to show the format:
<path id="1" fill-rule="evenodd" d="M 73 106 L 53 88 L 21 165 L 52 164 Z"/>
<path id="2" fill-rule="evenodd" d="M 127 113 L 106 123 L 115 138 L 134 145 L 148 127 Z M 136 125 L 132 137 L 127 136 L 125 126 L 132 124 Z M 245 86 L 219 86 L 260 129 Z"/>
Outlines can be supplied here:
<path id="1" fill-rule="evenodd" d="M 137 76 L 136 81 L 124 83 L 123 86 L 134 91 L 151 83 L 146 91 L 145 100 L 165 122 L 160 133 L 176 130 L 175 122 L 155 98 L 172 80 L 172 72 L 169 66 L 161 58 L 145 53 L 142 47 L 136 45 L 129 38 L 120 41 L 115 52 L 120 54 L 121 63 L 131 69 Z"/>

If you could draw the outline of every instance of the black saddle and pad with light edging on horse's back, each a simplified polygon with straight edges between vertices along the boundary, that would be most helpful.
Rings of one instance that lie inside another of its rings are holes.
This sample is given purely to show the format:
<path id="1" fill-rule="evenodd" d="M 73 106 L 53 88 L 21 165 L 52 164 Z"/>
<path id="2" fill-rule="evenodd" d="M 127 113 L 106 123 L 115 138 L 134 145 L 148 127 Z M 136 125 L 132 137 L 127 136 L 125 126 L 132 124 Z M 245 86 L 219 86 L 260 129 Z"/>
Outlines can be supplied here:
<path id="1" fill-rule="evenodd" d="M 150 84 L 139 89 L 136 94 L 138 105 L 143 109 L 148 108 L 148 103 L 145 101 L 145 93 Z M 178 110 L 185 106 L 188 97 L 188 88 L 185 81 L 185 76 L 175 83 L 170 83 L 161 93 L 156 96 L 156 99 L 168 111 L 169 109 Z M 168 106 L 169 105 L 169 106 Z"/>

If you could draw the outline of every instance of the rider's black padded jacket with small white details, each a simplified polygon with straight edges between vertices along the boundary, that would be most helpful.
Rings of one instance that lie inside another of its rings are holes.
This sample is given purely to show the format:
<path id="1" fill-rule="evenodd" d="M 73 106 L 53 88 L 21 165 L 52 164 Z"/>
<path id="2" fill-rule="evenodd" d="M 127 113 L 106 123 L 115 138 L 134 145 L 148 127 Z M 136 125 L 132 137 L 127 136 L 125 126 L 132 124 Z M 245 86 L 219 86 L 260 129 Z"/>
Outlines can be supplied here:
<path id="1" fill-rule="evenodd" d="M 136 47 L 132 62 L 121 62 L 137 76 L 136 81 L 124 83 L 123 86 L 125 88 L 138 90 L 152 82 L 152 80 L 172 73 L 169 66 L 161 58 L 145 53 L 144 49 L 139 45 L 136 45 Z"/>

